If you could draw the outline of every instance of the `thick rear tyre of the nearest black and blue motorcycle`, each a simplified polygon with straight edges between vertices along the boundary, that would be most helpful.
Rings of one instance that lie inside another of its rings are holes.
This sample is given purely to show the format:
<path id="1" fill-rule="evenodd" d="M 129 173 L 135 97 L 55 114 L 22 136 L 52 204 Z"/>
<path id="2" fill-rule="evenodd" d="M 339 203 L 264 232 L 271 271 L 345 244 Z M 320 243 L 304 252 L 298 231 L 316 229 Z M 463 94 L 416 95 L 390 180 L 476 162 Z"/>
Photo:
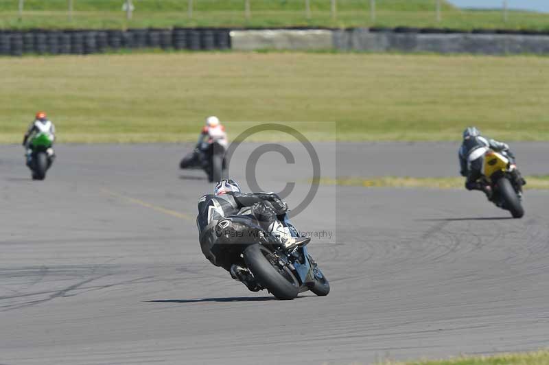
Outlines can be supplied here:
<path id="1" fill-rule="evenodd" d="M 277 299 L 294 299 L 299 294 L 299 283 L 288 267 L 280 268 L 278 259 L 260 244 L 253 244 L 244 250 L 244 261 L 255 279 L 266 287 Z"/>

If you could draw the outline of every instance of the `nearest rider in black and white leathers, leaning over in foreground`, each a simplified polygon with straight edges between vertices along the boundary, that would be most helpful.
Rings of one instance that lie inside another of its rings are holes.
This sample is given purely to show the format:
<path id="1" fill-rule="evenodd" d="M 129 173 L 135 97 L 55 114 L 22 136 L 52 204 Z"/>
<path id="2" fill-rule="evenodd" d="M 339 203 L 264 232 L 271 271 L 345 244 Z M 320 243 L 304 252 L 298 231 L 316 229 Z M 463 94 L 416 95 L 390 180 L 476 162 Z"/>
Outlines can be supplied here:
<path id="1" fill-rule="evenodd" d="M 246 207 L 248 209 L 244 209 Z M 307 244 L 310 237 L 292 237 L 283 229 L 277 215 L 283 215 L 287 210 L 287 204 L 276 193 L 242 193 L 235 181 L 221 180 L 215 186 L 213 194 L 207 194 L 198 200 L 196 224 L 202 253 L 213 265 L 221 266 L 231 273 L 233 279 L 242 281 L 249 290 L 261 290 L 246 268 L 244 259 L 240 256 L 241 251 L 232 252 L 233 245 L 216 243 L 218 236 L 215 234 L 215 227 L 222 218 L 229 215 L 253 215 L 261 228 L 276 237 L 285 248 L 292 250 L 296 246 Z"/>

